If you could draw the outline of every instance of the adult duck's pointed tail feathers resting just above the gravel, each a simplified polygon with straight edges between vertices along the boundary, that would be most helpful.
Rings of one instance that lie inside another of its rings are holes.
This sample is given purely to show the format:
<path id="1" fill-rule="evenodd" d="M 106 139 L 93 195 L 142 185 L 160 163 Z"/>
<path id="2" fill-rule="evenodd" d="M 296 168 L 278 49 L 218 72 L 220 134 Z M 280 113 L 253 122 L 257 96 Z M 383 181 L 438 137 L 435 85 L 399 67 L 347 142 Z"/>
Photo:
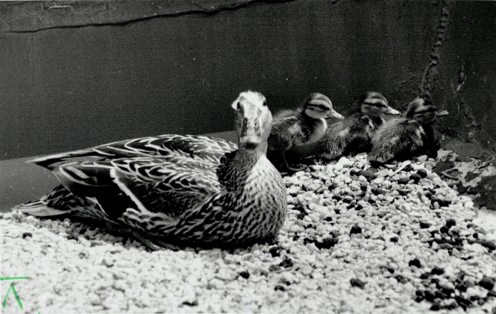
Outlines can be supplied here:
<path id="1" fill-rule="evenodd" d="M 47 195 L 17 205 L 12 210 L 21 211 L 37 217 L 60 216 L 70 214 L 71 208 L 69 204 L 71 203 L 74 203 L 72 193 L 61 184 Z"/>

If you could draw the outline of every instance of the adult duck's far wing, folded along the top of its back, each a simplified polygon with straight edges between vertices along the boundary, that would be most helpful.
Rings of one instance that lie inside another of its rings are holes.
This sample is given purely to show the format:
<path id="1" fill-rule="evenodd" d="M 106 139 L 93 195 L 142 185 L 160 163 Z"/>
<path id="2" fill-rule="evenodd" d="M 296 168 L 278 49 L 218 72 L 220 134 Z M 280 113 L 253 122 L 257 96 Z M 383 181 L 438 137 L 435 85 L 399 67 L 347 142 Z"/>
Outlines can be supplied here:
<path id="1" fill-rule="evenodd" d="M 237 150 L 237 145 L 222 139 L 206 136 L 166 134 L 104 144 L 89 149 L 61 153 L 32 159 L 51 170 L 68 161 L 122 158 L 122 157 L 188 157 L 207 163 L 219 163 L 227 153 Z"/>

